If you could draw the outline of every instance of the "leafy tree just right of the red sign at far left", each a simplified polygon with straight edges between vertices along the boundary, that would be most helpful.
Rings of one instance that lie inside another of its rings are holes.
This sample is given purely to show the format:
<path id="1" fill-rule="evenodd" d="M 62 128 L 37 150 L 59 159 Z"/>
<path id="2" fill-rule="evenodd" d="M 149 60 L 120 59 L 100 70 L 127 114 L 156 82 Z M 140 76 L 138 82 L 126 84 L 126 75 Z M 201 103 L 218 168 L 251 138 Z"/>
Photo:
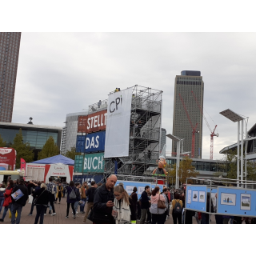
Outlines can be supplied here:
<path id="1" fill-rule="evenodd" d="M 30 143 L 23 143 L 22 129 L 18 131 L 14 138 L 14 144 L 11 146 L 16 150 L 16 169 L 21 166 L 21 158 L 23 158 L 26 162 L 32 162 L 34 160 L 34 152 L 30 148 Z"/>

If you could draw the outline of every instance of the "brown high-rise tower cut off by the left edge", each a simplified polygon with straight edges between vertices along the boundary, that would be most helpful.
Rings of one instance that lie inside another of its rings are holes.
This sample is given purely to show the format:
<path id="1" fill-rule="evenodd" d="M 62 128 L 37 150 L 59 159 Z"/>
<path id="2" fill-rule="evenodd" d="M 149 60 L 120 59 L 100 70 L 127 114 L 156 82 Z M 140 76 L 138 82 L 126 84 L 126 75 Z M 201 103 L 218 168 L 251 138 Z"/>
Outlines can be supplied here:
<path id="1" fill-rule="evenodd" d="M 21 32 L 0 32 L 0 122 L 11 122 Z"/>

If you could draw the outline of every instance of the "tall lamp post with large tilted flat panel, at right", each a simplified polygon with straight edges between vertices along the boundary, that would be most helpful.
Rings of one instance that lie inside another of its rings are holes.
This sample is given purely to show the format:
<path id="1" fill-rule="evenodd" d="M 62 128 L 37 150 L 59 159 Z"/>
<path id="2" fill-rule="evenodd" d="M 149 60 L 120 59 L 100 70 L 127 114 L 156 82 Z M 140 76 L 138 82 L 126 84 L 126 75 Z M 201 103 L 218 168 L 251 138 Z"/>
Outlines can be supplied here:
<path id="1" fill-rule="evenodd" d="M 237 179 L 238 179 L 238 186 L 239 186 L 239 177 L 240 181 L 243 180 L 243 122 L 244 119 L 241 115 L 235 113 L 234 111 L 227 109 L 219 114 L 222 114 L 225 118 L 230 119 L 232 122 L 238 122 L 238 158 L 237 158 Z M 242 122 L 241 122 L 242 121 Z M 239 175 L 239 144 L 240 144 L 240 122 L 241 122 L 241 175 Z M 247 136 L 246 136 L 247 138 Z M 246 149 L 247 150 L 247 149 Z"/>

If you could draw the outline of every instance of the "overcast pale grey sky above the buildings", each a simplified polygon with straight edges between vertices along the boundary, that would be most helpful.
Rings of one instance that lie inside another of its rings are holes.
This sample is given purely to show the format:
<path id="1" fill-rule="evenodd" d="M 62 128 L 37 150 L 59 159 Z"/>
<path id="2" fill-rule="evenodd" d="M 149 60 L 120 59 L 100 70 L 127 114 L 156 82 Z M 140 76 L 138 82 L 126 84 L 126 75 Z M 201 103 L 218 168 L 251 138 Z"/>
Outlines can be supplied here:
<path id="1" fill-rule="evenodd" d="M 12 122 L 64 126 L 66 114 L 88 109 L 116 87 L 163 90 L 162 127 L 172 133 L 174 78 L 200 70 L 204 108 L 218 125 L 214 159 L 237 141 L 230 108 L 256 122 L 255 33 L 22 33 Z M 171 150 L 171 142 L 167 143 Z M 202 158 L 210 158 L 203 123 Z"/>

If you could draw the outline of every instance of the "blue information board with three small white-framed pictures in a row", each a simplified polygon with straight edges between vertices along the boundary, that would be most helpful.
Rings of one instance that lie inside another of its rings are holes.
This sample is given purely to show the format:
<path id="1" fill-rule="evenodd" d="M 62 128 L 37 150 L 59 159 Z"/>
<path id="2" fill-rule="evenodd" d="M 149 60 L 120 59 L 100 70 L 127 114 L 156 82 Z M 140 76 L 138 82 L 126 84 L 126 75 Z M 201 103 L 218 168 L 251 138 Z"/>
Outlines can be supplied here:
<path id="1" fill-rule="evenodd" d="M 206 212 L 207 186 L 186 186 L 186 209 Z"/>

